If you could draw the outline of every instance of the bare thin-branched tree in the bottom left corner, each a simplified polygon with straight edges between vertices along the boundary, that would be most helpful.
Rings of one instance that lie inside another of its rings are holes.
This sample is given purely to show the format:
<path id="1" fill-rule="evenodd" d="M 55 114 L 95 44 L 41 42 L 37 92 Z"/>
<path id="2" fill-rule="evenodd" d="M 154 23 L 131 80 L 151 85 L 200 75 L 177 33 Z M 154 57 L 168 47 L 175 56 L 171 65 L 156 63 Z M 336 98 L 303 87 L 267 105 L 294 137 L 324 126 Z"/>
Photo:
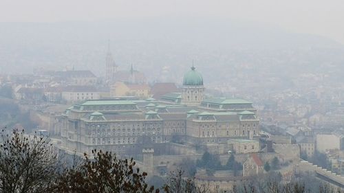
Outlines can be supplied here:
<path id="1" fill-rule="evenodd" d="M 57 170 L 50 140 L 17 130 L 2 140 L 0 192 L 49 192 Z"/>

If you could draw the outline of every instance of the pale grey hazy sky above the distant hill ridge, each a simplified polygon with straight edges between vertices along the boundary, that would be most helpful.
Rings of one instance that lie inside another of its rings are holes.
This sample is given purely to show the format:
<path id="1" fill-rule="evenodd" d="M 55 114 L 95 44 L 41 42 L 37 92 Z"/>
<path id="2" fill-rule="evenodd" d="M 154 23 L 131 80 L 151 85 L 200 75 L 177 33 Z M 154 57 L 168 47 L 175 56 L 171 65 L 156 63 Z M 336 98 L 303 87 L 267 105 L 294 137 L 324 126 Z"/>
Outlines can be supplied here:
<path id="1" fill-rule="evenodd" d="M 259 21 L 344 43 L 343 0 L 0 0 L 0 22 L 138 16 L 220 16 Z"/>

